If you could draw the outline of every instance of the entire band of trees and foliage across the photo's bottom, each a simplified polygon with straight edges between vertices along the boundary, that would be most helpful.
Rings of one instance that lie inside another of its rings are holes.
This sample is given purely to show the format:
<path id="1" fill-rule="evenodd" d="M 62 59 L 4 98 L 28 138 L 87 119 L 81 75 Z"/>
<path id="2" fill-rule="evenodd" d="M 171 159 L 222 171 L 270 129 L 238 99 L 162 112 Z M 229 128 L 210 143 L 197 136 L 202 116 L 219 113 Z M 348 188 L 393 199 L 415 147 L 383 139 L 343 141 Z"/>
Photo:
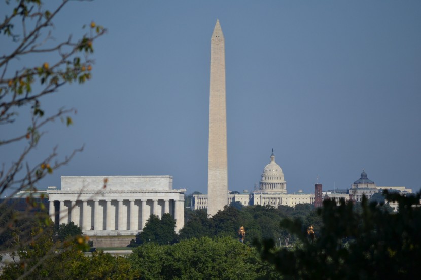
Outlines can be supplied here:
<path id="1" fill-rule="evenodd" d="M 421 261 L 421 207 L 416 207 L 421 195 L 385 197 L 399 203 L 398 213 L 367 199 L 361 204 L 325 201 L 321 209 L 232 204 L 212 218 L 203 210 L 192 211 L 179 235 L 170 215 L 151 215 L 128 257 L 103 252 L 86 257 L 85 239 L 69 236 L 79 232 L 75 225 L 55 230 L 34 221 L 30 242 L 16 252 L 19 260 L 3 268 L 0 279 L 415 277 Z M 238 239 L 241 225 L 247 229 L 246 244 Z M 307 231 L 309 225 L 314 233 Z"/>

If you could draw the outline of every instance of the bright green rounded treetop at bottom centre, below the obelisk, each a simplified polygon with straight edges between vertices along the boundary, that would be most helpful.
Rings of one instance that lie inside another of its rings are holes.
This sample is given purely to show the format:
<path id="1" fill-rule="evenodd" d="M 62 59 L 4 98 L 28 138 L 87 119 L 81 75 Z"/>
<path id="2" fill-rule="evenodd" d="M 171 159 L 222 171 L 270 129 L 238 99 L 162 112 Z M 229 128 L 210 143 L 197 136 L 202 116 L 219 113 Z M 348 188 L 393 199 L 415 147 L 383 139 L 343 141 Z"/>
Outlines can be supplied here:
<path id="1" fill-rule="evenodd" d="M 146 243 L 129 256 L 140 279 L 278 279 L 254 248 L 231 237 L 201 237 L 174 245 Z"/>

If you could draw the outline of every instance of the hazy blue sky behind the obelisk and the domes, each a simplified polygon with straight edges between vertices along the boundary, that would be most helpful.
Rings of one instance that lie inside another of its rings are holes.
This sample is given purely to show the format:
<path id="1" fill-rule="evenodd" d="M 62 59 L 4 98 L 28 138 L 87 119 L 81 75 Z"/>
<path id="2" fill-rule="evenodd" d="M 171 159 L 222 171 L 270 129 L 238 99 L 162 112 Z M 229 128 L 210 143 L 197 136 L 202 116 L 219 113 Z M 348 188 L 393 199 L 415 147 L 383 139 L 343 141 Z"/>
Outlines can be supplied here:
<path id="1" fill-rule="evenodd" d="M 39 187 L 60 186 L 62 175 L 172 175 L 174 188 L 207 193 L 219 18 L 230 190 L 252 190 L 272 148 L 289 193 L 314 192 L 317 174 L 324 189 L 348 188 L 363 168 L 377 185 L 418 190 L 420 14 L 420 1 L 69 3 L 54 21 L 57 41 L 91 20 L 108 33 L 94 44 L 92 80 L 41 100 L 47 114 L 62 106 L 78 114 L 70 128 L 49 126 L 31 158 L 57 144 L 60 156 L 85 150 Z M 27 120 L 1 128 L 1 138 L 26 130 Z M 21 149 L 3 147 L 1 162 Z"/>

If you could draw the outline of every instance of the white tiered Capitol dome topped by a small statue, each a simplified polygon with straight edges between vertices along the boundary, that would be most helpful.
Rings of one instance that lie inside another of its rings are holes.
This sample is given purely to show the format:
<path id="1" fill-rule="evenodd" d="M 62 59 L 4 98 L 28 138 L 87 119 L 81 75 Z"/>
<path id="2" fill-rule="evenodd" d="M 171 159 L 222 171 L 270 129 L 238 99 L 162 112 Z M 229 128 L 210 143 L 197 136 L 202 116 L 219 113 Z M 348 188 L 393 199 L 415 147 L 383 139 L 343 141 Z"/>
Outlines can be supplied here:
<path id="1" fill-rule="evenodd" d="M 287 193 L 287 182 L 284 179 L 282 168 L 275 162 L 275 155 L 270 156 L 270 163 L 265 166 L 260 181 L 261 192 Z"/>

